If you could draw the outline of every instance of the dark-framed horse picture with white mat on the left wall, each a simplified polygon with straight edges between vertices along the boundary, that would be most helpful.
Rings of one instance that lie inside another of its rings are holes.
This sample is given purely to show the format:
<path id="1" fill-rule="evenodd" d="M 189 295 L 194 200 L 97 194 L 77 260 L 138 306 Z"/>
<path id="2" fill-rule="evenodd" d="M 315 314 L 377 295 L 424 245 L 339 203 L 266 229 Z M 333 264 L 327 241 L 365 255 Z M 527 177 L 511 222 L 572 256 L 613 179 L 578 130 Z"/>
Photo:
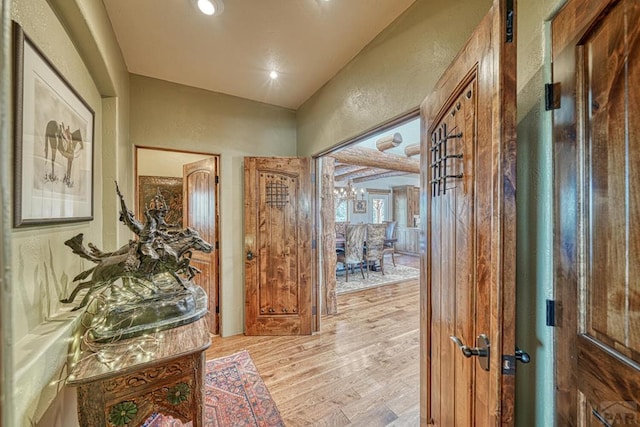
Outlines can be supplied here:
<path id="1" fill-rule="evenodd" d="M 93 220 L 95 113 L 13 22 L 14 227 Z"/>

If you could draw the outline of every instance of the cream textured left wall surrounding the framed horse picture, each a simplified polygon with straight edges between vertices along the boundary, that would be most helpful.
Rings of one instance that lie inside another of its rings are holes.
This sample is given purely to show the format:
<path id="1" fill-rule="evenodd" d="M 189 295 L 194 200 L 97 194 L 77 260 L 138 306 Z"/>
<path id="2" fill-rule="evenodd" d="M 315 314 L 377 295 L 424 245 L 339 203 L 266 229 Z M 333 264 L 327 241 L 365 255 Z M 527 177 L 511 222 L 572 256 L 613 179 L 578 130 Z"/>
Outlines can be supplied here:
<path id="1" fill-rule="evenodd" d="M 84 233 L 86 240 L 101 247 L 105 226 L 108 224 L 114 230 L 117 227 L 117 217 L 106 218 L 102 210 L 103 170 L 115 169 L 116 163 L 115 156 L 110 156 L 110 160 L 102 156 L 103 124 L 111 129 L 111 134 L 120 134 L 111 139 L 111 151 L 115 153 L 115 146 L 124 144 L 122 136 L 128 133 L 127 119 L 122 117 L 128 117 L 128 75 L 126 71 L 123 73 L 124 62 L 102 2 L 79 4 L 69 0 L 20 0 L 11 4 L 12 19 L 95 111 L 94 220 L 9 231 L 15 425 L 32 425 L 54 399 L 73 394 L 59 393 L 63 387 L 58 380 L 66 375 L 64 364 L 73 342 L 77 314 L 71 314 L 71 307 L 58 300 L 68 294 L 73 286 L 71 278 L 85 264 L 71 254 L 64 241 Z M 117 99 L 111 106 L 106 103 L 113 111 L 106 123 L 103 105 L 109 98 L 104 97 Z M 60 425 L 69 424 L 65 421 Z"/>

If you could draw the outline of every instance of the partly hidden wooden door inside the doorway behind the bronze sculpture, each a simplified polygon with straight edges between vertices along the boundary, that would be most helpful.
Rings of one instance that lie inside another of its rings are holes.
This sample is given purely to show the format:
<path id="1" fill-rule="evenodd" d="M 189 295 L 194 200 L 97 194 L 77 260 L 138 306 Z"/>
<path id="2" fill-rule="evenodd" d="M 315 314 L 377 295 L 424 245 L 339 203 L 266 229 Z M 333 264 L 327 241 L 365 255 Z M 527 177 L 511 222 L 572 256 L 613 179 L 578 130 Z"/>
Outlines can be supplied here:
<path id="1" fill-rule="evenodd" d="M 218 334 L 219 322 L 219 275 L 218 275 L 218 159 L 209 157 L 182 167 L 183 224 L 200 233 L 205 241 L 213 245 L 211 253 L 195 251 L 191 265 L 201 273 L 194 281 L 209 297 L 207 322 L 209 331 Z"/>

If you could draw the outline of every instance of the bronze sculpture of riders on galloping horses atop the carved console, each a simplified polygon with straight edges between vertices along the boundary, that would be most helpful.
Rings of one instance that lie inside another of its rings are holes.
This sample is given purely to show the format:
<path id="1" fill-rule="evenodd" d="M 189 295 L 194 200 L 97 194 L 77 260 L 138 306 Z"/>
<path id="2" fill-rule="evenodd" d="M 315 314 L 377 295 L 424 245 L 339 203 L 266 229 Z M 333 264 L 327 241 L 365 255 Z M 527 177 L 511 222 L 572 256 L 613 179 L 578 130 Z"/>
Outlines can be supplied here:
<path id="1" fill-rule="evenodd" d="M 190 265 L 192 251 L 209 253 L 212 250 L 212 245 L 203 240 L 196 230 L 186 228 L 175 234 L 166 231 L 164 216 L 167 205 L 160 193 L 150 203 L 151 206 L 145 209 L 146 223 L 142 224 L 127 209 L 117 184 L 116 191 L 120 197 L 120 220 L 139 238 L 114 252 L 102 252 L 91 243 L 88 248 L 85 247 L 82 233 L 65 242 L 74 254 L 96 263 L 73 279 L 77 282 L 91 276 L 90 280 L 78 283 L 69 297 L 61 300 L 63 303 L 73 302 L 78 292 L 89 289 L 74 310 L 86 306 L 95 291 L 111 286 L 118 279 L 122 279 L 124 285 L 128 286 L 132 280 L 152 283 L 154 276 L 169 273 L 178 286 L 186 289 L 185 283 L 199 273 L 197 268 Z M 186 277 L 186 282 L 180 275 Z"/>

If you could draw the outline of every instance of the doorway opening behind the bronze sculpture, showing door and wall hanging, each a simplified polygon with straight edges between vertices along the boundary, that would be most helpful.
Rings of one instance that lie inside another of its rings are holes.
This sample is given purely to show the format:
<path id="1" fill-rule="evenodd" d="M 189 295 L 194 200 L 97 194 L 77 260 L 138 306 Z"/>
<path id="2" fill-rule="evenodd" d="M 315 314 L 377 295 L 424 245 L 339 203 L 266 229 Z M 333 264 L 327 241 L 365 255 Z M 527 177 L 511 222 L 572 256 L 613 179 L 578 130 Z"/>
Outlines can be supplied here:
<path id="1" fill-rule="evenodd" d="M 207 322 L 212 334 L 220 331 L 219 277 L 219 165 L 220 156 L 210 153 L 136 146 L 135 212 L 143 212 L 160 192 L 169 207 L 169 232 L 187 227 L 213 246 L 210 254 L 194 252 L 190 264 L 200 272 L 193 278 L 208 296 Z"/>

